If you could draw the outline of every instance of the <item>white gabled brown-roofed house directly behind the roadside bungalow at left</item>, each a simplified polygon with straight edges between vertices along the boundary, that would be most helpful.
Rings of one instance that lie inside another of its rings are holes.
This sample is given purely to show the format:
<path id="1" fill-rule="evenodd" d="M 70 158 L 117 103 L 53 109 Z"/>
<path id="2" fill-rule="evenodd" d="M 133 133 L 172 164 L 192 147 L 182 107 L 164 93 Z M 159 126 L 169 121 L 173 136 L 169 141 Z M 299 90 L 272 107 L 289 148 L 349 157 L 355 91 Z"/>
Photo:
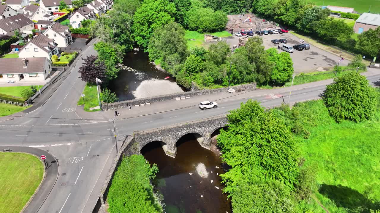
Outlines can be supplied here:
<path id="1" fill-rule="evenodd" d="M 58 48 L 54 39 L 47 38 L 43 34 L 40 34 L 25 44 L 17 54 L 20 58 L 45 57 L 51 60 L 52 55 L 58 55 Z"/>

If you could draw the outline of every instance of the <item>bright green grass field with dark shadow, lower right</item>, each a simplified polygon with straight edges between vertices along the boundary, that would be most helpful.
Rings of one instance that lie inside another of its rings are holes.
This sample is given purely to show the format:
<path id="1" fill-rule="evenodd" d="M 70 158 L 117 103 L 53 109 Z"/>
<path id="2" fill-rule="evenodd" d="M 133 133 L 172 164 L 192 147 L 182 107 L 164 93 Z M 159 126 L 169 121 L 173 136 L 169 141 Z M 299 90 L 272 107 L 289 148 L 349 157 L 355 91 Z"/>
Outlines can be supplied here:
<path id="1" fill-rule="evenodd" d="M 309 138 L 300 143 L 305 164 L 316 166 L 320 188 L 315 197 L 331 213 L 363 206 L 375 209 L 372 202 L 380 200 L 380 110 L 369 121 L 340 124 L 326 119 L 326 111 L 318 112 L 317 117 L 323 116 L 320 120 L 327 122 L 311 128 Z M 321 212 L 321 208 L 314 212 Z"/>

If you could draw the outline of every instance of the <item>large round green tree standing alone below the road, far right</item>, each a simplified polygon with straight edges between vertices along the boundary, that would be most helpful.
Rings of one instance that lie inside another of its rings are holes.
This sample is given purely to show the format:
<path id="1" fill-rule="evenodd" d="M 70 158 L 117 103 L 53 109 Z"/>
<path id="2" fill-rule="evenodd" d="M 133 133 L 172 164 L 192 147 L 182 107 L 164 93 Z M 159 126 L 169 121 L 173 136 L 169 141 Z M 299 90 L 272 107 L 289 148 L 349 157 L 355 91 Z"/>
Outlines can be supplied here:
<path id="1" fill-rule="evenodd" d="M 377 93 L 368 80 L 356 71 L 335 78 L 322 94 L 323 102 L 338 123 L 369 119 L 376 111 Z"/>

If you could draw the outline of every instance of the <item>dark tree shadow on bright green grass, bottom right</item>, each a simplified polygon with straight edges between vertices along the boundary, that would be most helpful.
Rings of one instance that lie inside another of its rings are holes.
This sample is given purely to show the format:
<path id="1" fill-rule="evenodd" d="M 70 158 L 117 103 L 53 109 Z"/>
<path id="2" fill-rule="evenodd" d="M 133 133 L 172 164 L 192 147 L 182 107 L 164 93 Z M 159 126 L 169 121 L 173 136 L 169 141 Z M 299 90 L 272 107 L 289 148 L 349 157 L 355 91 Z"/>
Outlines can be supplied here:
<path id="1" fill-rule="evenodd" d="M 367 213 L 378 208 L 367 196 L 347 186 L 322 184 L 319 193 L 335 202 L 337 207 L 347 208 L 350 213 Z"/>

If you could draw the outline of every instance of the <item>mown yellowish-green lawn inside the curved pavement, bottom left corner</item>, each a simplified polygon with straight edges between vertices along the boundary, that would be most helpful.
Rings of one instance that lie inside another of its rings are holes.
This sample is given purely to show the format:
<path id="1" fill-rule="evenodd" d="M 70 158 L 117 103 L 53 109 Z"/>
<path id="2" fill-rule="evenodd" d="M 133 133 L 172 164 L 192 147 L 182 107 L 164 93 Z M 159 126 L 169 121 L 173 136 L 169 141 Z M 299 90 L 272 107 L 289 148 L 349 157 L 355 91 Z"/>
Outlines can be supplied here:
<path id="1" fill-rule="evenodd" d="M 0 152 L 0 213 L 19 213 L 40 185 L 44 166 L 25 153 Z"/>

